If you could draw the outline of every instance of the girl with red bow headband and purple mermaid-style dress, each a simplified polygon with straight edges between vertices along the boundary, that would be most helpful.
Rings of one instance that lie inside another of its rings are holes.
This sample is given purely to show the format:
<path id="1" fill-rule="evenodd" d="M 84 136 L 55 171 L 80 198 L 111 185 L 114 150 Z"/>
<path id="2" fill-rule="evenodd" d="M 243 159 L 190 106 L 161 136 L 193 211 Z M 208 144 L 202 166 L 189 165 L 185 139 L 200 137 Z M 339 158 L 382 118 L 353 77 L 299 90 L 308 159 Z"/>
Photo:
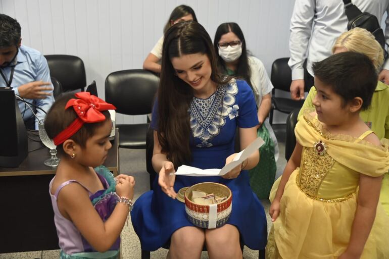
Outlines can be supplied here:
<path id="1" fill-rule="evenodd" d="M 88 92 L 64 95 L 44 122 L 61 155 L 50 182 L 61 258 L 118 256 L 135 182 L 102 166 L 112 147 L 109 109 L 116 108 Z"/>

